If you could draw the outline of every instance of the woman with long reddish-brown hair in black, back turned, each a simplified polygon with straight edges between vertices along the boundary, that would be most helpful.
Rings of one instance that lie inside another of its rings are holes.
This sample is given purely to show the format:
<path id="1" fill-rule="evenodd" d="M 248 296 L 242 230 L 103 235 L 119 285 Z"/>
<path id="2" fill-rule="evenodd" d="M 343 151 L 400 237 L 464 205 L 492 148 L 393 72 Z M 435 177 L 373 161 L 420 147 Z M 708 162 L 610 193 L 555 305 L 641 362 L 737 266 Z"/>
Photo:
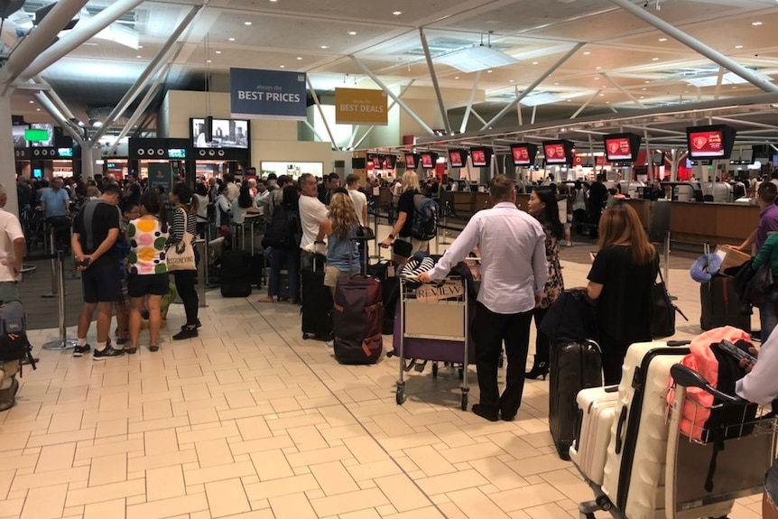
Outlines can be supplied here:
<path id="1" fill-rule="evenodd" d="M 597 341 L 606 385 L 618 384 L 626 348 L 651 340 L 651 288 L 659 268 L 637 213 L 617 201 L 599 222 L 587 294 L 597 300 Z"/>

